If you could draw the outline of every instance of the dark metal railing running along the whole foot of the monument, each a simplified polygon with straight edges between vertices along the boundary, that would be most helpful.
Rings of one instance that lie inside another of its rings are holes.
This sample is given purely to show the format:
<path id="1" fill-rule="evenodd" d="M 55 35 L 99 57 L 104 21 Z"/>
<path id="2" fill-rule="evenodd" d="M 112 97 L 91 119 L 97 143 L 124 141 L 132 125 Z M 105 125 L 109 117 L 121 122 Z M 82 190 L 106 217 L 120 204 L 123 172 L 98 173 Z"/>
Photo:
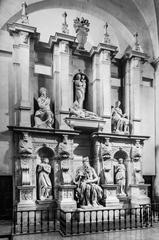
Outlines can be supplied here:
<path id="1" fill-rule="evenodd" d="M 13 234 L 60 231 L 64 236 L 152 227 L 159 222 L 159 204 L 130 209 L 14 211 Z"/>

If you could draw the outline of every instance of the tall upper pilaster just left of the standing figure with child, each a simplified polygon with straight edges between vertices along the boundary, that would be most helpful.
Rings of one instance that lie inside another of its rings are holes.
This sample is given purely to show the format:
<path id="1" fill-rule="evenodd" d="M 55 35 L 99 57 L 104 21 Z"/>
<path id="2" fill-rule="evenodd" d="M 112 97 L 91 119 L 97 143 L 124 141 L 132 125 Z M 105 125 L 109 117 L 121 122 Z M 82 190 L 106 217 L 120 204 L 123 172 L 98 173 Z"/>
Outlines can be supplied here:
<path id="1" fill-rule="evenodd" d="M 69 108 L 72 100 L 72 83 L 70 82 L 70 58 L 71 48 L 70 42 L 74 40 L 69 35 L 56 33 L 53 48 L 53 75 L 54 75 L 54 100 L 55 100 L 55 115 L 57 117 L 59 129 L 69 129 L 64 122 L 65 117 L 68 117 Z M 55 88 L 56 86 L 56 88 Z"/>

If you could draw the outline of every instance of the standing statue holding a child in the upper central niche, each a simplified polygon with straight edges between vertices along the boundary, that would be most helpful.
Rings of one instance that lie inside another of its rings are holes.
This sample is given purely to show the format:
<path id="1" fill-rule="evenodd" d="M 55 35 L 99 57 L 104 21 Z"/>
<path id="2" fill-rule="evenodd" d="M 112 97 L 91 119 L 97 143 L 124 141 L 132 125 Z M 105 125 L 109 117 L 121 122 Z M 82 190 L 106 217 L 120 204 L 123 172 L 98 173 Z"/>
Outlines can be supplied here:
<path id="1" fill-rule="evenodd" d="M 75 101 L 78 102 L 79 108 L 83 108 L 83 102 L 86 92 L 86 76 L 85 74 L 78 73 L 74 79 L 75 83 Z"/>

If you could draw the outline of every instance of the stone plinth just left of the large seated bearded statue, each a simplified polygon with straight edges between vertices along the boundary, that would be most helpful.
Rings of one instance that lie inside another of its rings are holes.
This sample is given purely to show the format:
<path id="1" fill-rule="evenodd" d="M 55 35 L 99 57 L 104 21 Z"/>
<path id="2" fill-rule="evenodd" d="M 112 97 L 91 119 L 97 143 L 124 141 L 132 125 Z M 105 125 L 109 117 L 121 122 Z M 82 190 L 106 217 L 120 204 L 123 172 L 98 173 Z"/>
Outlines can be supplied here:
<path id="1" fill-rule="evenodd" d="M 75 185 L 60 185 L 58 205 L 62 210 L 75 211 L 77 203 L 74 200 Z"/>

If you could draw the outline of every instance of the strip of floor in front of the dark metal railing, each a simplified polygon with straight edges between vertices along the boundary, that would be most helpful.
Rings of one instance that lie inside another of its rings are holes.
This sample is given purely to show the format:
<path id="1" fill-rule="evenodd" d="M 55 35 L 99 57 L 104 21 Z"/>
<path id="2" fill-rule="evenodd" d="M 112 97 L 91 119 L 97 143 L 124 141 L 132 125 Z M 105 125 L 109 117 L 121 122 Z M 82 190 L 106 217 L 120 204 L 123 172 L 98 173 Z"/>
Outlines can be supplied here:
<path id="1" fill-rule="evenodd" d="M 34 235 L 14 236 L 14 240 L 158 240 L 159 224 L 153 228 L 138 229 L 131 231 L 119 231 L 109 233 L 98 233 L 91 235 L 82 235 L 74 237 L 62 237 L 59 233 L 45 233 Z"/>

